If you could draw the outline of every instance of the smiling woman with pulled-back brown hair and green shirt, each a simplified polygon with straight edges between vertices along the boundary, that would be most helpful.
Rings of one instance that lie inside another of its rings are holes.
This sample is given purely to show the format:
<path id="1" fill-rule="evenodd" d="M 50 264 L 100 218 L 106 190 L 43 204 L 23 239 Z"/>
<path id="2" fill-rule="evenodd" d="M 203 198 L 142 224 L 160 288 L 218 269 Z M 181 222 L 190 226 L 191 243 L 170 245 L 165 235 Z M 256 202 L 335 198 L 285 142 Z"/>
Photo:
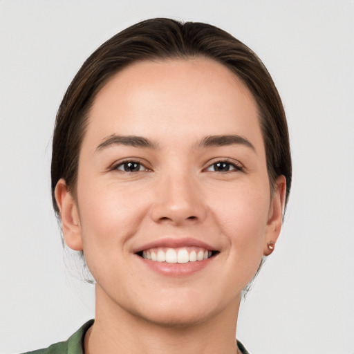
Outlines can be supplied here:
<path id="1" fill-rule="evenodd" d="M 171 19 L 115 35 L 64 96 L 51 172 L 96 315 L 36 353 L 247 353 L 242 292 L 274 250 L 291 184 L 283 106 L 248 47 Z"/>

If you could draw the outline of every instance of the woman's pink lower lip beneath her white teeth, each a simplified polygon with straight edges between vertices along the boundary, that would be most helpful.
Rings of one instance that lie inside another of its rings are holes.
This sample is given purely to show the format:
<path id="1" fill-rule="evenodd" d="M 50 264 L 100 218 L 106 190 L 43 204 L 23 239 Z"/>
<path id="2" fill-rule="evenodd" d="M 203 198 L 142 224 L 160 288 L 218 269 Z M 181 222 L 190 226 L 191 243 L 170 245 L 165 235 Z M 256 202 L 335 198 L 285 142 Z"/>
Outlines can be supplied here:
<path id="1" fill-rule="evenodd" d="M 147 267 L 151 270 L 158 272 L 163 275 L 167 275 L 169 277 L 185 277 L 187 275 L 194 274 L 199 270 L 207 267 L 216 256 L 210 257 L 208 259 L 204 259 L 203 261 L 195 261 L 188 263 L 166 263 L 166 262 L 157 262 L 151 261 L 149 259 L 140 258 L 142 262 L 145 263 Z"/>

